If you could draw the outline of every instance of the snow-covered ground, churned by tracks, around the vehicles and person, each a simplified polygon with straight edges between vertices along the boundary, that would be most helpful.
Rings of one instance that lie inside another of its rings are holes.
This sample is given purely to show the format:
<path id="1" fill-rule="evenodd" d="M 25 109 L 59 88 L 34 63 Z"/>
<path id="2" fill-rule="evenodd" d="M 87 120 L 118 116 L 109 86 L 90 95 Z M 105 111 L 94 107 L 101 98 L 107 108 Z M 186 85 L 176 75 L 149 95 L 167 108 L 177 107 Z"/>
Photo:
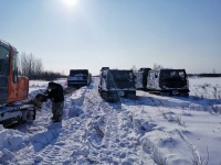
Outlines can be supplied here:
<path id="1" fill-rule="evenodd" d="M 136 100 L 108 103 L 93 78 L 65 96 L 61 123 L 48 101 L 33 123 L 0 125 L 0 164 L 220 165 L 221 78 L 189 80 L 189 98 L 138 90 Z M 31 81 L 29 98 L 46 85 Z"/>

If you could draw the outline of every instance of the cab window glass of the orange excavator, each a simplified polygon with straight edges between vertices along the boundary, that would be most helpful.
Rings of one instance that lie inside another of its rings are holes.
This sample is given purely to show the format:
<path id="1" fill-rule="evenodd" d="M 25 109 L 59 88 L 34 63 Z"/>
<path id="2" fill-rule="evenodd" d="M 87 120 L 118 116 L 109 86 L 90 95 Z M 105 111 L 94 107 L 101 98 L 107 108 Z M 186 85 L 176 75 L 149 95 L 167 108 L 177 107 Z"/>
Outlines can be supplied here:
<path id="1" fill-rule="evenodd" d="M 10 52 L 0 45 L 0 75 L 8 75 Z"/>

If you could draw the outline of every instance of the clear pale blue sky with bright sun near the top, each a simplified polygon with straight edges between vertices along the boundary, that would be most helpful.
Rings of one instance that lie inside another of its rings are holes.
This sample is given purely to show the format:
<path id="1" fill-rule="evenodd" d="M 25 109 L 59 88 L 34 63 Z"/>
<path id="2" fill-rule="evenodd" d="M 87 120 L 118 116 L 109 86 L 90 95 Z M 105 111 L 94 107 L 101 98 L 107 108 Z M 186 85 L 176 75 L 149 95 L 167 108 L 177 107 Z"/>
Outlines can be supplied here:
<path id="1" fill-rule="evenodd" d="M 67 1 L 0 0 L 0 38 L 66 75 L 154 64 L 221 73 L 221 0 Z"/>

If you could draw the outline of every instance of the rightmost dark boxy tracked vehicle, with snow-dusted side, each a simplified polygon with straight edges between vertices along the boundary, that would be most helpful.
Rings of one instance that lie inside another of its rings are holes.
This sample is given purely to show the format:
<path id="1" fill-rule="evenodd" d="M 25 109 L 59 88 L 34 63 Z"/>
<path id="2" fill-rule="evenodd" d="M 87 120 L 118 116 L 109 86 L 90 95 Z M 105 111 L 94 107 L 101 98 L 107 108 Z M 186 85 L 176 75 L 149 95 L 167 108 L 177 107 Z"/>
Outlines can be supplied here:
<path id="1" fill-rule="evenodd" d="M 189 96 L 189 81 L 185 69 L 150 70 L 147 89 L 166 96 Z"/>

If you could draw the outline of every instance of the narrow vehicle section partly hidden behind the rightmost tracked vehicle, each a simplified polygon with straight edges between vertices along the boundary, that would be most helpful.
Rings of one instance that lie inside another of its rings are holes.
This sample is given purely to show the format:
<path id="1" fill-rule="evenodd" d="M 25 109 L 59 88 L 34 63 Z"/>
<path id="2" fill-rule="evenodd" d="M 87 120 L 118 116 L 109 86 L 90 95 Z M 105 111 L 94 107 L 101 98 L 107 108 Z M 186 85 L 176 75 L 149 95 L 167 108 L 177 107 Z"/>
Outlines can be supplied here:
<path id="1" fill-rule="evenodd" d="M 147 76 L 150 68 L 140 68 L 138 72 L 134 73 L 135 76 L 135 86 L 136 89 L 143 89 L 145 90 L 147 87 Z"/>

